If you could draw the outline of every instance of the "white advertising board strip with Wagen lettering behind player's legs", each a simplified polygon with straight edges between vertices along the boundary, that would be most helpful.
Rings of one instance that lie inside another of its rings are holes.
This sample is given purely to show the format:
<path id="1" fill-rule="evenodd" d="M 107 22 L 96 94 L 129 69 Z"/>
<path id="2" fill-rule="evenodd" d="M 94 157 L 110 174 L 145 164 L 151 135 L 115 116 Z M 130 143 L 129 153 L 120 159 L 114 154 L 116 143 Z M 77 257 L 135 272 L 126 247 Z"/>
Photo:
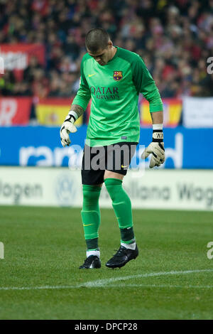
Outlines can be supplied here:
<path id="1" fill-rule="evenodd" d="M 213 171 L 128 171 L 124 188 L 133 208 L 213 210 Z M 0 205 L 82 206 L 79 170 L 0 167 Z M 111 208 L 105 186 L 102 208 Z"/>

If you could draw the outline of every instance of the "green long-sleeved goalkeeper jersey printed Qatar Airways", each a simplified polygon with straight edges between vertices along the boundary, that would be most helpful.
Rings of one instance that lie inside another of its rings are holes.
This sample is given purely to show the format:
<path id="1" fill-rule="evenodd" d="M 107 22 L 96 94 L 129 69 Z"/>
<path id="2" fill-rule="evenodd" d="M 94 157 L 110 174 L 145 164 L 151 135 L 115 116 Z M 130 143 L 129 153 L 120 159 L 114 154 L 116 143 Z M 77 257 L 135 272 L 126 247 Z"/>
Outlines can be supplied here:
<path id="1" fill-rule="evenodd" d="M 88 53 L 82 59 L 80 88 L 72 103 L 85 110 L 92 98 L 89 146 L 139 141 L 139 92 L 148 100 L 150 112 L 163 111 L 158 88 L 143 60 L 136 53 L 116 48 L 114 57 L 103 66 Z"/>

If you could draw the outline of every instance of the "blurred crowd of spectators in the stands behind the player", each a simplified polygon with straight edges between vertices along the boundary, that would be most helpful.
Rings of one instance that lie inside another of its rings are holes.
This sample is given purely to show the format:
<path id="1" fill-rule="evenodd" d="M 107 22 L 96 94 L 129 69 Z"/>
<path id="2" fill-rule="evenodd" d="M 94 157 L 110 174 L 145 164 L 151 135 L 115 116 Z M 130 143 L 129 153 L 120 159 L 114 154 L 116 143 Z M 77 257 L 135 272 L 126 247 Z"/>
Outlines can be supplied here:
<path id="1" fill-rule="evenodd" d="M 75 95 L 84 37 L 95 27 L 141 55 L 161 97 L 213 96 L 213 0 L 0 0 L 0 45 L 45 45 L 45 66 L 31 57 L 20 81 L 6 70 L 0 95 Z"/>

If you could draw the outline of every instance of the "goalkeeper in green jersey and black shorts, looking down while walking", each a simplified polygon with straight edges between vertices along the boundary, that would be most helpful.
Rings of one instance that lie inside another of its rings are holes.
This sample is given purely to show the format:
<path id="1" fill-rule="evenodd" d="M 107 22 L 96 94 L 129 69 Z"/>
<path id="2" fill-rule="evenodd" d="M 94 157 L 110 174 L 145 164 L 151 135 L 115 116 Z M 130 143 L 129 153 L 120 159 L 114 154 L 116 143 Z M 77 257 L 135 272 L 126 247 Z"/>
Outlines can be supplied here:
<path id="1" fill-rule="evenodd" d="M 143 60 L 129 50 L 114 46 L 107 31 L 94 28 L 85 40 L 80 88 L 60 129 L 62 146 L 70 145 L 74 123 L 92 98 L 91 114 L 82 160 L 82 224 L 87 258 L 80 269 L 100 268 L 98 244 L 99 195 L 105 183 L 121 232 L 119 250 L 107 262 L 109 268 L 124 266 L 138 257 L 133 232 L 131 200 L 122 187 L 139 141 L 139 92 L 148 100 L 153 121 L 153 140 L 142 158 L 151 154 L 150 167 L 165 161 L 163 147 L 163 104 L 158 88 Z M 99 161 L 99 166 L 94 166 Z"/>

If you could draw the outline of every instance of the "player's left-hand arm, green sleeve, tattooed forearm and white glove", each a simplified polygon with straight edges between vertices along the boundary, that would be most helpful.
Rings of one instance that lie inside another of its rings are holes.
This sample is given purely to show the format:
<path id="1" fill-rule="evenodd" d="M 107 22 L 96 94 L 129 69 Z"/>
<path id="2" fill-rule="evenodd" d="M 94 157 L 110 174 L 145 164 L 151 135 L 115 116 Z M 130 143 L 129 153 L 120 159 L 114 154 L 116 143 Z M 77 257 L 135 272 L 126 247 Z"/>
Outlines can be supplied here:
<path id="1" fill-rule="evenodd" d="M 70 112 L 68 112 L 67 117 L 65 118 L 65 122 L 63 122 L 60 128 L 60 141 L 62 146 L 65 147 L 70 145 L 71 141 L 69 134 L 70 132 L 74 133 L 77 131 L 74 123 L 84 113 L 90 98 L 91 98 L 91 92 L 89 90 L 87 80 L 84 76 L 84 58 L 83 58 L 81 63 L 80 87 L 79 90 L 77 91 L 75 99 L 72 102 Z"/>

